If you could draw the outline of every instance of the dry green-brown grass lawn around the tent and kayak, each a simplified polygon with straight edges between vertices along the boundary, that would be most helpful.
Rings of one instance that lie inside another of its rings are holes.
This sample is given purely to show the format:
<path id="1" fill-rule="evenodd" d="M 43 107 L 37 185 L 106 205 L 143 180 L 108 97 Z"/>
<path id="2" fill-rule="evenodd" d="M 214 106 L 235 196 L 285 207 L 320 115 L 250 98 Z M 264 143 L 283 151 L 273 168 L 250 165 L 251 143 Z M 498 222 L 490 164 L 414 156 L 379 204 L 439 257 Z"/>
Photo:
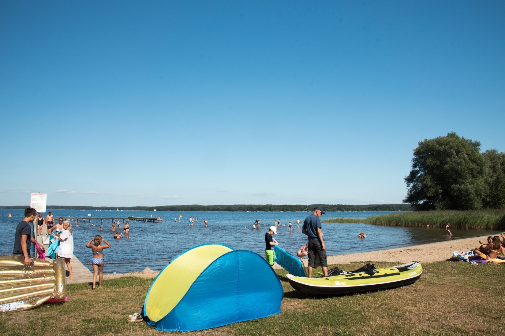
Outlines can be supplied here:
<path id="1" fill-rule="evenodd" d="M 376 262 L 377 267 L 399 263 Z M 344 265 L 355 270 L 363 263 Z M 466 262 L 423 264 L 416 283 L 384 291 L 338 297 L 308 297 L 287 282 L 281 313 L 275 316 L 190 332 L 194 335 L 483 335 L 505 331 L 505 265 Z M 92 291 L 68 285 L 69 301 L 0 314 L 2 336 L 159 335 L 145 322 L 126 317 L 143 304 L 152 280 L 119 278 Z M 261 279 L 251 286 L 261 286 Z M 177 332 L 178 333 L 178 332 Z"/>

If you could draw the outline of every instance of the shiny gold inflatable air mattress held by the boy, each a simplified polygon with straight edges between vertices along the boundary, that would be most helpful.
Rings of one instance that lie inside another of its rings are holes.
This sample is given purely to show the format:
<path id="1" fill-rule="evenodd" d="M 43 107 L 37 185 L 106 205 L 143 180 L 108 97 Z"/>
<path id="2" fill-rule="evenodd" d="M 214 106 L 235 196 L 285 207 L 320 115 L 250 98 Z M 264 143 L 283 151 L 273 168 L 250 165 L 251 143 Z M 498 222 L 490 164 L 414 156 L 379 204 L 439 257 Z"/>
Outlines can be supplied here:
<path id="1" fill-rule="evenodd" d="M 2 312 L 27 310 L 55 298 L 65 299 L 66 275 L 62 259 L 54 262 L 23 255 L 0 255 L 0 308 Z"/>

